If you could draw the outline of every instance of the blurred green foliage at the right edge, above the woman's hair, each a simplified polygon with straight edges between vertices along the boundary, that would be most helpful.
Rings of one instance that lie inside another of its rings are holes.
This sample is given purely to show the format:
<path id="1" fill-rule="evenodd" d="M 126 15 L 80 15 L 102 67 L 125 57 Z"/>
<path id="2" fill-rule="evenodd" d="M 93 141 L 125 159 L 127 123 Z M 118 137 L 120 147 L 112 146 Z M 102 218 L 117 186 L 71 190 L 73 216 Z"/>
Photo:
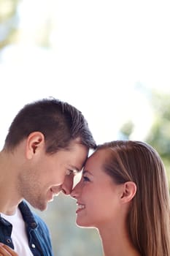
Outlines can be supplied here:
<path id="1" fill-rule="evenodd" d="M 155 148 L 163 159 L 170 184 L 170 94 L 151 90 L 149 94 L 147 91 L 147 97 L 148 95 L 154 119 L 144 140 Z M 133 129 L 133 123 L 128 121 L 120 128 L 120 132 L 129 139 Z"/>

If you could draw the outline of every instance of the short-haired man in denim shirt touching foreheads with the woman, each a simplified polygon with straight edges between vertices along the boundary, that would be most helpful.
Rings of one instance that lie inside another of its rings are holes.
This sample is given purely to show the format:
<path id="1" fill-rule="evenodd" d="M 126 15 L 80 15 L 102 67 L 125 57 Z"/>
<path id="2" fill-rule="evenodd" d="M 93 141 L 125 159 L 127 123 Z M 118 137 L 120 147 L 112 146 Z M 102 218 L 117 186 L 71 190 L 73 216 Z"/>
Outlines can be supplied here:
<path id="1" fill-rule="evenodd" d="M 42 99 L 20 110 L 0 152 L 1 243 L 22 256 L 53 255 L 47 226 L 26 201 L 44 211 L 54 195 L 69 195 L 95 147 L 82 113 L 66 102 Z"/>

